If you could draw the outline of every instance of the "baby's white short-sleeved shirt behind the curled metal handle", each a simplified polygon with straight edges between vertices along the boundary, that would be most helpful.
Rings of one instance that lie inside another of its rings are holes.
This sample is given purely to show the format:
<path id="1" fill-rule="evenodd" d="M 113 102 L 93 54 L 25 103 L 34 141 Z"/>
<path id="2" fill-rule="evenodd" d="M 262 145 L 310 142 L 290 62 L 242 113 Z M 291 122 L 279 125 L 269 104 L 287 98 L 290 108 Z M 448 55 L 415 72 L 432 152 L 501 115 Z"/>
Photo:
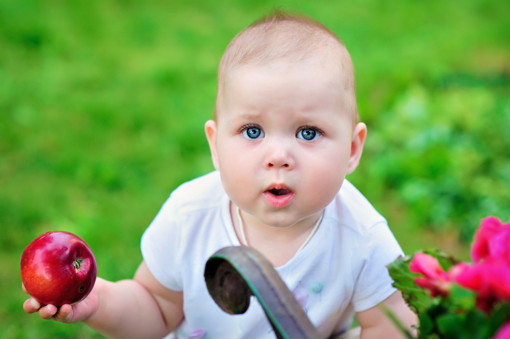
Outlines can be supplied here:
<path id="1" fill-rule="evenodd" d="M 240 245 L 229 205 L 219 172 L 211 172 L 175 189 L 143 234 L 142 255 L 150 272 L 184 294 L 185 320 L 169 337 L 275 337 L 256 299 L 245 314 L 229 315 L 207 291 L 207 259 L 220 248 Z M 275 269 L 327 337 L 348 329 L 354 312 L 396 291 L 386 265 L 401 254 L 386 219 L 345 180 L 310 242 Z"/>

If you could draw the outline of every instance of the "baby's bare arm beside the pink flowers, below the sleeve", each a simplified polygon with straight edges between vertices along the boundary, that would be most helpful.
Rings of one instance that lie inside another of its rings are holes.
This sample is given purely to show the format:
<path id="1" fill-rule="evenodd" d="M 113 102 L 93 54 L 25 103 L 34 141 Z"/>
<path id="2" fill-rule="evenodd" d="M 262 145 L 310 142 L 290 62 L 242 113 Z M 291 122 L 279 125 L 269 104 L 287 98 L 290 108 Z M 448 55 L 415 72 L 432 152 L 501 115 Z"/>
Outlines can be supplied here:
<path id="1" fill-rule="evenodd" d="M 418 320 L 413 311 L 405 303 L 399 291 L 389 296 L 382 304 L 390 309 L 406 329 L 416 336 L 411 326 L 416 325 Z M 356 319 L 358 319 L 358 323 L 361 326 L 360 339 L 405 338 L 402 332 L 385 315 L 384 311 L 377 306 L 356 313 Z"/>

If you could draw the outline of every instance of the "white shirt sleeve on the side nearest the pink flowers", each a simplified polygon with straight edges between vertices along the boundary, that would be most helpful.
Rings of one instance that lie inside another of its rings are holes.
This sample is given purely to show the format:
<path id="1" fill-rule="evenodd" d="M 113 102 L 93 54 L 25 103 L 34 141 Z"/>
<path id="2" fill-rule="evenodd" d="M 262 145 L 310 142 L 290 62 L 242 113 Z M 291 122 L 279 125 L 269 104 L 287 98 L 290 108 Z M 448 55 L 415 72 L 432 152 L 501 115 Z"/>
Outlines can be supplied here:
<path id="1" fill-rule="evenodd" d="M 386 222 L 375 224 L 362 236 L 352 257 L 355 312 L 376 306 L 396 291 L 386 265 L 402 254 Z"/>

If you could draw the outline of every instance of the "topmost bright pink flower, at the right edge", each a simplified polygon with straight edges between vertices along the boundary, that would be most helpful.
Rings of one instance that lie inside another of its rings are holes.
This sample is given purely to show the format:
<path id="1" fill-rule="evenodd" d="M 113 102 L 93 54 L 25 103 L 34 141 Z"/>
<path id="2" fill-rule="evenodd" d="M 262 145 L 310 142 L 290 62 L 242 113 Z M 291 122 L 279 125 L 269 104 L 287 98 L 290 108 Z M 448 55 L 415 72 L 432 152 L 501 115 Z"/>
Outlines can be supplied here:
<path id="1" fill-rule="evenodd" d="M 510 222 L 503 224 L 496 217 L 482 219 L 471 247 L 475 263 L 490 256 L 503 257 L 510 264 Z"/>

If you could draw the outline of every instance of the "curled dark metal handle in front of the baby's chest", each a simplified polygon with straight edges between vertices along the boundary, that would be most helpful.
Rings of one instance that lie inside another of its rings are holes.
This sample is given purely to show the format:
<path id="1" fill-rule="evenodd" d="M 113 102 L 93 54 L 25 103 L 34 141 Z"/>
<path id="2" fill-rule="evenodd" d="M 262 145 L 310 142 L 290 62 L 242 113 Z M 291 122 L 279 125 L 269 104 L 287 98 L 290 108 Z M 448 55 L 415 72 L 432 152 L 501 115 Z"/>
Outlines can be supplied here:
<path id="1" fill-rule="evenodd" d="M 254 295 L 278 339 L 322 339 L 273 266 L 253 248 L 220 249 L 203 275 L 209 294 L 225 312 L 244 313 Z"/>

